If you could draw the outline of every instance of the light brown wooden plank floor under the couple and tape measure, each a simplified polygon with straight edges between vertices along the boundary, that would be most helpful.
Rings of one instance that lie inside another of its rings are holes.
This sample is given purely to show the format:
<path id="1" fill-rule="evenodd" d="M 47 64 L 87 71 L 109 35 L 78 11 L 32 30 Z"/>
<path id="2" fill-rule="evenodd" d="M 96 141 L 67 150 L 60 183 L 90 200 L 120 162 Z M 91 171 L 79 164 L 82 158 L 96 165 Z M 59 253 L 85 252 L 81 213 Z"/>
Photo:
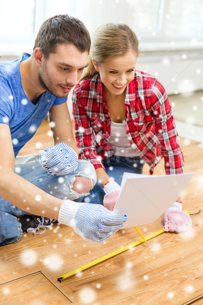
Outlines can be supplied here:
<path id="1" fill-rule="evenodd" d="M 38 142 L 42 142 L 42 147 L 53 144 L 48 136 L 42 141 L 49 131 L 47 121 L 43 122 L 41 131 L 23 147 L 21 155 L 35 153 Z M 191 216 L 192 228 L 180 234 L 158 235 L 149 240 L 149 246 L 142 243 L 61 283 L 57 277 L 140 239 L 140 235 L 134 228 L 124 229 L 103 244 L 90 245 L 64 225 L 55 224 L 36 237 L 24 233 L 18 243 L 0 248 L 0 284 L 42 270 L 79 305 L 182 305 L 200 295 L 203 291 L 203 148 L 185 139 L 181 139 L 181 145 L 184 172 L 195 172 L 181 200 L 184 209 L 192 214 L 201 209 L 199 214 Z M 147 165 L 144 173 L 149 174 Z M 154 174 L 165 174 L 163 160 Z M 162 227 L 160 217 L 139 229 L 148 236 Z M 40 286 L 41 280 L 38 283 Z M 35 287 L 35 281 L 29 285 L 30 289 Z M 46 295 L 50 290 L 41 285 L 41 294 Z M 27 304 L 26 292 L 16 286 L 12 293 L 19 297 L 21 304 Z M 10 296 L 4 292 L 5 298 Z M 33 299 L 38 300 L 38 296 Z M 62 301 L 61 297 L 58 303 Z M 52 303 L 45 300 L 43 305 Z M 200 304 L 201 300 L 194 302 L 194 305 Z"/>

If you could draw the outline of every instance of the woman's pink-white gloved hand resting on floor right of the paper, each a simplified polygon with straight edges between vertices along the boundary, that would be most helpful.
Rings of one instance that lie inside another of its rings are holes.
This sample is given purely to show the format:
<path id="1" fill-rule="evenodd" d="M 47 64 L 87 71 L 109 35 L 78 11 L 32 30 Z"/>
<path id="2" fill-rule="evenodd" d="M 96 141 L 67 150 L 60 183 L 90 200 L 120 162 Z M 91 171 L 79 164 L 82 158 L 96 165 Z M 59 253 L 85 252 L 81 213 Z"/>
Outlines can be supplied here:
<path id="1" fill-rule="evenodd" d="M 183 232 L 191 227 L 192 221 L 186 211 L 182 210 L 182 203 L 175 202 L 163 214 L 164 226 L 163 230 L 168 232 Z"/>

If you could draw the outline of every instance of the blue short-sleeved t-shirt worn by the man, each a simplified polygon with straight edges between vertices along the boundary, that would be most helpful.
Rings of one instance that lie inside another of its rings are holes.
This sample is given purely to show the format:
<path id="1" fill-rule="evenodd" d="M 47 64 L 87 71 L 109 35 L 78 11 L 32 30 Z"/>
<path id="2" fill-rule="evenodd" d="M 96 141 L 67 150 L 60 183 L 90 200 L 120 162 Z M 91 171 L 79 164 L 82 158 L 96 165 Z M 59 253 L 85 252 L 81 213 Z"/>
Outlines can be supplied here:
<path id="1" fill-rule="evenodd" d="M 57 98 L 48 91 L 35 105 L 27 99 L 21 83 L 20 62 L 29 56 L 23 53 L 13 62 L 0 62 L 0 123 L 10 127 L 15 157 L 35 135 L 51 107 L 67 101 L 67 97 Z"/>

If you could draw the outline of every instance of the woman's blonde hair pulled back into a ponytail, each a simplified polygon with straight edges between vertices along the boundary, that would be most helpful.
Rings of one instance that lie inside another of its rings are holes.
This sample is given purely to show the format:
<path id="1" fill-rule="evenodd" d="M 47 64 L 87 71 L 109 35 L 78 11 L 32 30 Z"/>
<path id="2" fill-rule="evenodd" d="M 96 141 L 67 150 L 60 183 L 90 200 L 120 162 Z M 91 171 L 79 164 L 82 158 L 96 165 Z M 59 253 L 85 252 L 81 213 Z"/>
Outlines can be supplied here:
<path id="1" fill-rule="evenodd" d="M 107 23 L 99 26 L 93 33 L 88 67 L 80 80 L 98 74 L 92 63 L 92 58 L 99 66 L 105 60 L 114 56 L 125 55 L 130 50 L 133 50 L 137 55 L 140 53 L 138 38 L 128 25 Z"/>

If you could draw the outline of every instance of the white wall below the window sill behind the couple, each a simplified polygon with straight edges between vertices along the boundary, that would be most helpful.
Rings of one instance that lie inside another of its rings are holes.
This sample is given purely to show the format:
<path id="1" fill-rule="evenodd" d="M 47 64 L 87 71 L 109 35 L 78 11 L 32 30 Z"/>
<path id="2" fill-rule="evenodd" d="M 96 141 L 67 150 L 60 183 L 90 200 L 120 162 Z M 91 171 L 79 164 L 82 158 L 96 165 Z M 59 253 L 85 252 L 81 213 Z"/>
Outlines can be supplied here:
<path id="1" fill-rule="evenodd" d="M 14 60 L 17 55 L 1 56 L 0 61 Z M 203 89 L 203 51 L 145 51 L 138 58 L 138 70 L 158 78 L 168 95 Z M 72 113 L 72 93 L 68 97 Z"/>

